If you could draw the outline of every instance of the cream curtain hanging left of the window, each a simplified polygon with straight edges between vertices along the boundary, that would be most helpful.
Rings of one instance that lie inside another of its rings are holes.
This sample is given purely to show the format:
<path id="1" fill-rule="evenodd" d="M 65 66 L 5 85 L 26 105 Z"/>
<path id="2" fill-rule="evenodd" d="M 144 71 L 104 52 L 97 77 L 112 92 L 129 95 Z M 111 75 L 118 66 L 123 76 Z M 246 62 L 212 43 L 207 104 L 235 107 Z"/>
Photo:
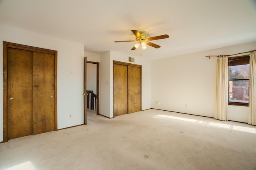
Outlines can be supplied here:
<path id="1" fill-rule="evenodd" d="M 228 120 L 228 57 L 217 58 L 214 119 Z"/>

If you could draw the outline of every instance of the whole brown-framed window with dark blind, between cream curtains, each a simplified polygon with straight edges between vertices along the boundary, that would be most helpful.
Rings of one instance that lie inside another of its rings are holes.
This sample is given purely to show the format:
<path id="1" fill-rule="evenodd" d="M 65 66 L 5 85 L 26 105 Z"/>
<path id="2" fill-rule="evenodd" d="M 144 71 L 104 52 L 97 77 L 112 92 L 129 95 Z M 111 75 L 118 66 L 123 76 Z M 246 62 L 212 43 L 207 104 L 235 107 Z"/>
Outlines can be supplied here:
<path id="1" fill-rule="evenodd" d="M 228 58 L 229 105 L 248 106 L 249 55 Z"/>

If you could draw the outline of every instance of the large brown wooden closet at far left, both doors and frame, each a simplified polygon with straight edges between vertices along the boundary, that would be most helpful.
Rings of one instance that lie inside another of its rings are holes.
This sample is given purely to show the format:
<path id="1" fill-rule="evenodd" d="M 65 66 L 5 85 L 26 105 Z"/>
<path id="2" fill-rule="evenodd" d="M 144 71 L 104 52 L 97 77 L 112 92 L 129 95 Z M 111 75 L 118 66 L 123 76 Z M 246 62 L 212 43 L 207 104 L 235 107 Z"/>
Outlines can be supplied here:
<path id="1" fill-rule="evenodd" d="M 4 142 L 57 130 L 57 51 L 4 41 Z"/>

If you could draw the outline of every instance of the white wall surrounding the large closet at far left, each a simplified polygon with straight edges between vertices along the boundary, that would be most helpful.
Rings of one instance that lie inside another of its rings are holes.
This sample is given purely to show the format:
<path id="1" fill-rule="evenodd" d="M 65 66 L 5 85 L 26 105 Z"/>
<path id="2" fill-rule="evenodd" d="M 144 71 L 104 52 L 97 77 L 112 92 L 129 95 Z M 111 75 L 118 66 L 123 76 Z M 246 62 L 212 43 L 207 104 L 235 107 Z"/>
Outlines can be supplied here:
<path id="1" fill-rule="evenodd" d="M 6 25 L 0 25 L 0 74 L 3 75 L 3 41 L 58 51 L 58 129 L 84 123 L 84 45 Z M 0 141 L 3 141 L 3 80 L 0 79 Z M 70 118 L 69 115 L 72 115 Z"/>

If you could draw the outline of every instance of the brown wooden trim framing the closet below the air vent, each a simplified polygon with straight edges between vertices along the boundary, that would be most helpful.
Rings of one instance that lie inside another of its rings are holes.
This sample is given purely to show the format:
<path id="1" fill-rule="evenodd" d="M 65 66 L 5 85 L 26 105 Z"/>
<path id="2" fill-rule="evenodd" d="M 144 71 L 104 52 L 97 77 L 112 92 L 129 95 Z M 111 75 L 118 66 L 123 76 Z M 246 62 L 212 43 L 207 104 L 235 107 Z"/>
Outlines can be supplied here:
<path id="1" fill-rule="evenodd" d="M 140 111 L 142 110 L 142 65 L 138 65 L 138 64 L 132 64 L 132 63 L 125 63 L 125 62 L 122 62 L 122 61 L 114 61 L 113 60 L 113 117 L 114 116 L 114 65 L 115 64 L 120 64 L 120 65 L 125 65 L 125 66 L 134 66 L 134 67 L 139 67 L 140 68 L 140 92 L 141 92 L 141 95 L 140 95 Z M 129 76 L 129 75 L 128 75 Z M 129 107 L 128 107 L 128 113 L 129 113 Z"/>

